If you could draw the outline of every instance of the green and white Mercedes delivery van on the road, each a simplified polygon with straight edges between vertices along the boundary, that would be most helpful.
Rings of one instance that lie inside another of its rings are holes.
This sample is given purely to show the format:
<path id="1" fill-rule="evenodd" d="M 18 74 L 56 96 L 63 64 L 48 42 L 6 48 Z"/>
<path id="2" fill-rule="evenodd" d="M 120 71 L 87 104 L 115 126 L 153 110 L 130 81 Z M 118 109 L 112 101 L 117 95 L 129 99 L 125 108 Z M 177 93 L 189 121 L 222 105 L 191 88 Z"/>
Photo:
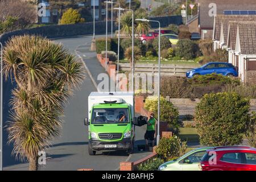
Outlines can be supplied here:
<path id="1" fill-rule="evenodd" d="M 89 155 L 101 150 L 133 152 L 135 125 L 133 92 L 92 92 L 88 98 Z"/>

